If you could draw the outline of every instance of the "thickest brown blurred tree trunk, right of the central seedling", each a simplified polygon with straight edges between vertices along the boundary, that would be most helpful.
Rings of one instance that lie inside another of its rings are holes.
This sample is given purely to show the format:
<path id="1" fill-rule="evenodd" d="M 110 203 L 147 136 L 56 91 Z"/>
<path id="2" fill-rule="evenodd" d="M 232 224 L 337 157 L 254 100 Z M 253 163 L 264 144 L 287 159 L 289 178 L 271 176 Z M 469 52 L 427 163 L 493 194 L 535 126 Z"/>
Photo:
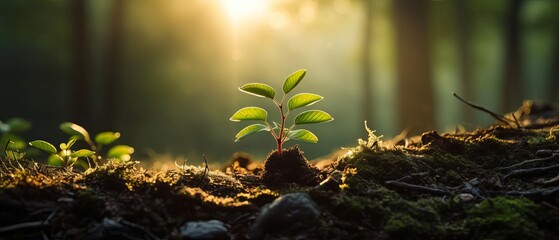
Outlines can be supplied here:
<path id="1" fill-rule="evenodd" d="M 396 66 L 400 124 L 410 134 L 433 129 L 427 0 L 396 0 Z"/>

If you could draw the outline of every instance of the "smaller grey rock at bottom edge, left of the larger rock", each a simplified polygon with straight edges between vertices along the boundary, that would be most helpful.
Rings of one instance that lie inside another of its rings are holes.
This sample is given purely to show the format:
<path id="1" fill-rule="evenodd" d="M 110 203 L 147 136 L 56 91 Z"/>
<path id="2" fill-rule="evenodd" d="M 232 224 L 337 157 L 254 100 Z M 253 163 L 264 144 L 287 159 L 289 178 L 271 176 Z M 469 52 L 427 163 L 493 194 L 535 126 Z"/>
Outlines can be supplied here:
<path id="1" fill-rule="evenodd" d="M 187 222 L 181 227 L 181 239 L 230 239 L 227 226 L 219 220 Z"/>

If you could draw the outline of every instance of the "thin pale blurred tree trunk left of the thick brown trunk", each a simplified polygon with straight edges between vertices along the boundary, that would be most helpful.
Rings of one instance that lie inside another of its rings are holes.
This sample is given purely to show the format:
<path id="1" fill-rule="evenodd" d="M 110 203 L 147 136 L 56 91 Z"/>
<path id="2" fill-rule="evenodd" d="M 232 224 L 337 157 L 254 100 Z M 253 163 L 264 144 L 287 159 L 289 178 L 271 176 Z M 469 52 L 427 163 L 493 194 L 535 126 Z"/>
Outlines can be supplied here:
<path id="1" fill-rule="evenodd" d="M 365 22 L 363 24 L 363 52 L 361 59 L 361 70 L 362 70 L 362 91 L 363 91 L 363 120 L 372 123 L 372 110 L 371 110 L 371 35 L 372 35 L 372 18 L 373 9 L 372 2 L 365 0 L 363 1 L 365 8 Z"/>

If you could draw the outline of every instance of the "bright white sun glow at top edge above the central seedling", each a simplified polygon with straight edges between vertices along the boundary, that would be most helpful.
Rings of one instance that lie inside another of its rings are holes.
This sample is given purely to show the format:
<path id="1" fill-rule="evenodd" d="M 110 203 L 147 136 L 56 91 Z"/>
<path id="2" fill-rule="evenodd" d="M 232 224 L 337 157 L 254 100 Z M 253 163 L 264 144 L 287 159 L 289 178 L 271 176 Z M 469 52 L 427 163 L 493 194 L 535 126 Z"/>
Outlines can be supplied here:
<path id="1" fill-rule="evenodd" d="M 233 21 L 265 15 L 269 0 L 221 0 Z"/>

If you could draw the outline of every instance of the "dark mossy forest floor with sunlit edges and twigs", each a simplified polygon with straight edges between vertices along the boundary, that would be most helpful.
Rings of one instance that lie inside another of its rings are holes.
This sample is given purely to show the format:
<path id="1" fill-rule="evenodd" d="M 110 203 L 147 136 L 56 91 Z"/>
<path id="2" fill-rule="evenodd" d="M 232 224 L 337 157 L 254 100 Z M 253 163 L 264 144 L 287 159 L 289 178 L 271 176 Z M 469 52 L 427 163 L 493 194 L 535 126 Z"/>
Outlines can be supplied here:
<path id="1" fill-rule="evenodd" d="M 406 146 L 372 136 L 320 169 L 321 179 L 342 172 L 338 191 L 270 188 L 258 169 L 163 173 L 131 162 L 80 173 L 3 159 L 0 238 L 178 239 L 185 222 L 218 219 L 246 239 L 260 207 L 306 191 L 319 220 L 273 239 L 559 239 L 559 184 L 550 181 L 559 170 L 510 175 L 559 164 L 557 128 L 428 132 Z M 538 158 L 548 160 L 515 166 Z"/>

